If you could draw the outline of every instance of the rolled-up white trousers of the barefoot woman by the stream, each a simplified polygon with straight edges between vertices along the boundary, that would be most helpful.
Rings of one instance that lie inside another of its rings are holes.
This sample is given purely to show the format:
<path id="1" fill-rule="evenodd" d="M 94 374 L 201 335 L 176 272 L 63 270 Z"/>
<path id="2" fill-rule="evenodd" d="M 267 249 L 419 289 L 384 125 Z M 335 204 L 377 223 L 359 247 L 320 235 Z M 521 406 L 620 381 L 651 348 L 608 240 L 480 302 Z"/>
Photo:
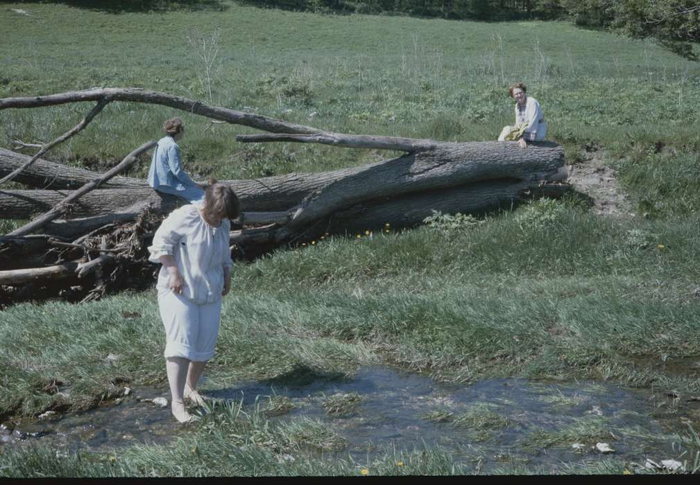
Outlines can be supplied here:
<path id="1" fill-rule="evenodd" d="M 171 289 L 158 289 L 158 308 L 165 326 L 167 357 L 204 362 L 214 356 L 221 319 L 221 298 L 197 305 Z"/>

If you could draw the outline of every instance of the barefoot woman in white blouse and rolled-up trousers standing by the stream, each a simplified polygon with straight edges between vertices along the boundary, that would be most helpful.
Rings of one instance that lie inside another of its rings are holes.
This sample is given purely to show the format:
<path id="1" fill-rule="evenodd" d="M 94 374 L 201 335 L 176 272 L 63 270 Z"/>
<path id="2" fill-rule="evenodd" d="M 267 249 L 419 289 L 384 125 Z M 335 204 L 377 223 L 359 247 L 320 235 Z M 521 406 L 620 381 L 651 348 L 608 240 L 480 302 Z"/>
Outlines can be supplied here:
<path id="1" fill-rule="evenodd" d="M 174 210 L 153 236 L 150 261 L 162 263 L 158 307 L 165 326 L 166 370 L 172 414 L 192 419 L 183 398 L 202 403 L 197 381 L 214 356 L 221 298 L 230 290 L 230 219 L 241 211 L 234 191 L 210 180 L 201 205 Z"/>

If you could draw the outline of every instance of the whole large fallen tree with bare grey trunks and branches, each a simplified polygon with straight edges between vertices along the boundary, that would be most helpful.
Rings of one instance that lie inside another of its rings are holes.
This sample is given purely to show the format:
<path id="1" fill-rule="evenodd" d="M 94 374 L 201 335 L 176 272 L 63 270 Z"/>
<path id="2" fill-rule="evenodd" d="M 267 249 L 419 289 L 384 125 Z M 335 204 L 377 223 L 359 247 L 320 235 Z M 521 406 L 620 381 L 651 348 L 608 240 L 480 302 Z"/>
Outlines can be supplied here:
<path id="1" fill-rule="evenodd" d="M 223 181 L 236 191 L 244 210 L 237 230 L 230 233 L 232 250 L 248 259 L 323 233 L 358 233 L 385 224 L 394 229 L 414 226 L 433 211 L 480 214 L 507 210 L 535 194 L 560 196 L 568 189 L 557 182 L 561 180 L 564 156 L 555 143 L 531 143 L 523 150 L 514 142 L 446 143 L 332 133 L 134 88 L 0 99 L 0 110 L 83 101 L 98 105 L 76 128 L 44 147 L 77 133 L 106 103 L 132 101 L 170 106 L 273 133 L 239 135 L 241 143 L 321 143 L 406 152 L 401 157 L 335 171 Z M 53 208 L 36 224 L 46 236 L 0 238 L 0 287 L 10 285 L 13 294 L 26 296 L 34 288 L 50 287 L 52 281 L 74 281 L 78 275 L 88 275 L 90 283 L 83 284 L 78 278 L 76 289 L 66 291 L 71 298 L 88 301 L 131 281 L 151 281 L 156 266 L 148 263 L 146 247 L 162 218 L 185 202 L 154 191 L 145 180 L 107 180 L 111 174 L 71 168 L 38 156 L 0 149 L 0 178 L 12 174 L 13 180 L 34 187 L 0 190 L 0 219 L 30 219 Z M 58 215 L 65 219 L 52 220 Z M 18 268 L 18 255 L 31 267 Z M 52 269 L 34 267 L 37 261 Z M 66 265 L 72 266 L 66 270 Z M 20 273 L 11 273 L 10 267 Z M 25 287 L 19 289 L 21 284 Z"/>

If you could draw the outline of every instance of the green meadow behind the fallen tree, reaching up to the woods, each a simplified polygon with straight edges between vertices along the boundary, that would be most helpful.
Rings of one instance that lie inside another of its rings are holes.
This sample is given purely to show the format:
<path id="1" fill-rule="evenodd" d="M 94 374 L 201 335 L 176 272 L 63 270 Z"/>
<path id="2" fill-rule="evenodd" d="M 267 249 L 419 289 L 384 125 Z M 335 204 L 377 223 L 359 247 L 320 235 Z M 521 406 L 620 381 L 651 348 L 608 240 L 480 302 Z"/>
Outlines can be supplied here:
<path id="1" fill-rule="evenodd" d="M 119 15 L 60 4 L 15 5 L 29 16 L 7 4 L 0 17 L 6 32 L 0 96 L 137 86 L 209 101 L 208 87 L 197 76 L 202 61 L 186 33 L 194 29 L 206 36 L 221 28 L 211 86 L 211 102 L 221 106 L 339 132 L 484 140 L 511 121 L 505 88 L 524 80 L 552 120 L 550 136 L 566 145 L 597 140 L 608 146 L 629 137 L 650 144 L 657 138 L 698 140 L 692 93 L 699 68 L 653 43 L 567 22 L 336 17 L 224 3 L 223 11 Z M 47 22 L 52 29 L 42 29 Z M 537 42 L 523 52 L 523 38 Z M 87 109 L 0 113 L 0 145 L 17 138 L 48 141 Z M 199 176 L 318 171 L 384 156 L 308 145 L 241 145 L 233 138 L 249 131 L 243 127 L 116 103 L 48 157 L 114 164 L 146 138 L 160 136 L 162 120 L 174 114 L 188 125 L 183 153 Z M 133 175 L 145 175 L 144 165 Z"/>

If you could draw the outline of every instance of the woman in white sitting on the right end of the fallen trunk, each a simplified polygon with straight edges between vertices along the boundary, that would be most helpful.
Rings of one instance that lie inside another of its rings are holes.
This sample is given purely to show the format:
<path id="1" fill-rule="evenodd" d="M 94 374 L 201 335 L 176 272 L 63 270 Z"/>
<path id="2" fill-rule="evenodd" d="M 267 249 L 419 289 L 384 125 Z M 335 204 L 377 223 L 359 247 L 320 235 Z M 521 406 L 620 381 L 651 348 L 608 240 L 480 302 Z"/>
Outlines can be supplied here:
<path id="1" fill-rule="evenodd" d="M 527 147 L 525 140 L 540 141 L 547 136 L 547 123 L 540 103 L 525 92 L 527 87 L 516 82 L 508 88 L 508 94 L 515 100 L 515 126 L 505 126 L 498 141 L 518 140 L 521 148 Z"/>

